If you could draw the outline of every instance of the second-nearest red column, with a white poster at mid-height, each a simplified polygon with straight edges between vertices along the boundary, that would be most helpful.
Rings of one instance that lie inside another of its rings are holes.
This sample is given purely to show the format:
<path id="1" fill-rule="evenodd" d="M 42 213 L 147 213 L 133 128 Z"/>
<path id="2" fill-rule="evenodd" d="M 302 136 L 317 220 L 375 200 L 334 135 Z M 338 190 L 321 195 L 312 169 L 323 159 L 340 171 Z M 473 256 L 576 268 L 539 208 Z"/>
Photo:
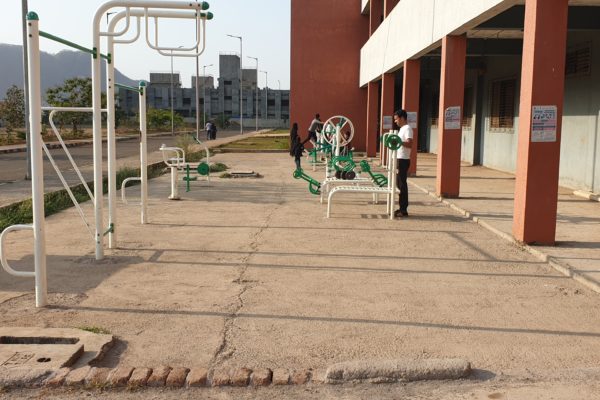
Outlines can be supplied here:
<path id="1" fill-rule="evenodd" d="M 446 36 L 442 39 L 436 191 L 438 196 L 443 197 L 458 197 L 460 193 L 461 125 L 466 55 L 465 35 Z"/>

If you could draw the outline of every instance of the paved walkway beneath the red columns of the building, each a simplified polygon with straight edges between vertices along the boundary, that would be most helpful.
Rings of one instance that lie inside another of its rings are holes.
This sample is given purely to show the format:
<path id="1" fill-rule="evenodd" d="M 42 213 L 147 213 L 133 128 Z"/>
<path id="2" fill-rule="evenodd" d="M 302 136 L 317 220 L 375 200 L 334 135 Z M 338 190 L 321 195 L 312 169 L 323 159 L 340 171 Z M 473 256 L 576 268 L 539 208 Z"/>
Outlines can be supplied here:
<path id="1" fill-rule="evenodd" d="M 419 154 L 417 177 L 410 182 L 435 193 L 436 156 Z M 445 200 L 481 225 L 512 239 L 514 175 L 463 165 L 460 198 Z M 556 269 L 600 292 L 600 203 L 559 188 L 556 246 L 526 246 Z"/>

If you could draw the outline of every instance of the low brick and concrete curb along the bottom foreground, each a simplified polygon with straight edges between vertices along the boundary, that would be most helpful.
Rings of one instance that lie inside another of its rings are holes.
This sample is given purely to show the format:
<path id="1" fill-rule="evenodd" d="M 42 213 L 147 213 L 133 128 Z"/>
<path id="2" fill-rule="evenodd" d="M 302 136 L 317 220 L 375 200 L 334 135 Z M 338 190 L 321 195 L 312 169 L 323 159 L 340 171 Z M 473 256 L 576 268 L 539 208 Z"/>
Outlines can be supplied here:
<path id="1" fill-rule="evenodd" d="M 335 364 L 327 370 L 285 368 L 185 368 L 171 366 L 99 368 L 61 368 L 36 374 L 16 375 L 2 381 L 3 389 L 13 388 L 211 388 L 274 387 L 344 382 L 393 383 L 419 380 L 461 379 L 469 375 L 471 365 L 459 359 L 358 361 Z M 27 379 L 25 379 L 27 378 Z"/>

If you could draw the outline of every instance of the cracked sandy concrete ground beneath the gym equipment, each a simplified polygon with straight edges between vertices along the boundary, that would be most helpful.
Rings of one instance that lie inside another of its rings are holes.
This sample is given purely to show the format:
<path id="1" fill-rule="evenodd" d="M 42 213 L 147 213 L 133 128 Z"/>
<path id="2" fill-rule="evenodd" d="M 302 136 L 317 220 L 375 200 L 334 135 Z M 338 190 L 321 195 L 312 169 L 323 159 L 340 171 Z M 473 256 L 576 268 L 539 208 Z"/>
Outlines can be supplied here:
<path id="1" fill-rule="evenodd" d="M 384 204 L 352 194 L 325 219 L 287 154 L 213 161 L 263 178 L 195 182 L 179 202 L 166 199 L 168 175 L 154 180 L 151 223 L 120 207 L 119 248 L 102 262 L 75 211 L 50 217 L 52 306 L 36 310 L 32 282 L 0 272 L 0 324 L 108 330 L 119 341 L 107 367 L 456 357 L 476 369 L 476 381 L 315 386 L 290 398 L 600 398 L 598 294 L 416 190 L 406 219 L 389 221 Z M 27 233 L 7 248 L 16 267 L 31 265 Z M 568 397 L 575 389 L 587 397 Z M 117 395 L 143 393 L 106 398 Z"/>

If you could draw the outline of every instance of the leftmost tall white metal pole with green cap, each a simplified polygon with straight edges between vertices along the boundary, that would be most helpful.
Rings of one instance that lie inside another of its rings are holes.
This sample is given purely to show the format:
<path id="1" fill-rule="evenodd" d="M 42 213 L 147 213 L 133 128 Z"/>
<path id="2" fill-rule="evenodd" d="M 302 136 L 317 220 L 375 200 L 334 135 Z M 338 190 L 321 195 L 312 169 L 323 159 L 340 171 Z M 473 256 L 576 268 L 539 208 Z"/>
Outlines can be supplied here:
<path id="1" fill-rule="evenodd" d="M 31 194 L 33 205 L 33 238 L 35 264 L 35 306 L 48 303 L 46 282 L 46 220 L 44 216 L 44 160 L 42 158 L 42 93 L 40 73 L 39 20 L 35 13 L 27 15 L 29 118 L 31 126 Z"/>

